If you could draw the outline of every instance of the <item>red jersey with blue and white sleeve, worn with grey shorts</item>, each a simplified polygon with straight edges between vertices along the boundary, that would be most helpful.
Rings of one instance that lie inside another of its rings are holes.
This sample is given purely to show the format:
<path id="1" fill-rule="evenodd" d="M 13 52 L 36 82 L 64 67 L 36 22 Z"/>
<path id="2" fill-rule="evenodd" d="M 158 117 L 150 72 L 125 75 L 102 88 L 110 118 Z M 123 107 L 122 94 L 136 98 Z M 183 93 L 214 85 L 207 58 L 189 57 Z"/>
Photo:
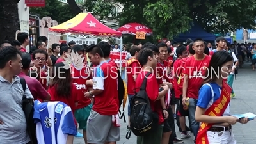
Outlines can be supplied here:
<path id="1" fill-rule="evenodd" d="M 93 89 L 103 90 L 95 95 L 93 110 L 100 115 L 116 115 L 118 106 L 118 74 L 116 68 L 108 62 L 102 62 L 93 70 Z"/>

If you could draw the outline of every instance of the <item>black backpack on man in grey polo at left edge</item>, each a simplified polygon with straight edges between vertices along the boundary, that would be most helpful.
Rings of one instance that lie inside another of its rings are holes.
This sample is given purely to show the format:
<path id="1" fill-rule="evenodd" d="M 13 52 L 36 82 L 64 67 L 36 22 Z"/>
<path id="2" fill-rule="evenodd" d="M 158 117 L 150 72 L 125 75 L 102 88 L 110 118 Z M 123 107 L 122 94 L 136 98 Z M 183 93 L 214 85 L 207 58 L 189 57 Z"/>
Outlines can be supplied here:
<path id="1" fill-rule="evenodd" d="M 26 80 L 23 77 L 20 77 L 20 83 L 22 85 L 23 91 L 25 93 L 26 90 Z M 29 138 L 31 140 L 31 144 L 37 144 L 36 138 L 36 124 L 33 120 L 34 115 L 34 100 L 26 98 L 26 95 L 23 95 L 22 98 L 22 109 L 25 113 L 25 118 L 27 122 L 27 131 L 29 134 Z"/>

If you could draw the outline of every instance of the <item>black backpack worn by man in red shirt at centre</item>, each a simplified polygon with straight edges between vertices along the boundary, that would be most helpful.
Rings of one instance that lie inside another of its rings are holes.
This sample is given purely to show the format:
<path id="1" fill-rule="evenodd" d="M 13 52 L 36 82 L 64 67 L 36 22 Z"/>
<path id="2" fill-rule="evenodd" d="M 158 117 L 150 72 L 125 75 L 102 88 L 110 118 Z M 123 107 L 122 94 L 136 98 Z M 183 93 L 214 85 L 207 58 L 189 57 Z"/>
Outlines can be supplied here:
<path id="1" fill-rule="evenodd" d="M 146 92 L 148 72 L 143 79 L 140 90 L 131 99 L 131 130 L 136 136 L 147 136 L 156 130 L 159 117 L 152 111 Z"/>

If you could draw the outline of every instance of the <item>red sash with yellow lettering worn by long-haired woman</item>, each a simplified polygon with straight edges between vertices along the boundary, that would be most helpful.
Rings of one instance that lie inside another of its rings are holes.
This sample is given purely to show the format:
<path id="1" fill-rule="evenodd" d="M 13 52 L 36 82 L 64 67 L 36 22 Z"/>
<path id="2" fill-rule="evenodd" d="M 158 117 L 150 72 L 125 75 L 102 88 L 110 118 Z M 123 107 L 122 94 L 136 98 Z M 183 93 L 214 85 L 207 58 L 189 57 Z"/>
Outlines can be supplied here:
<path id="1" fill-rule="evenodd" d="M 209 116 L 222 116 L 225 109 L 230 102 L 231 88 L 228 86 L 226 81 L 223 81 L 222 90 L 220 98 L 216 100 L 212 106 L 210 106 L 206 111 L 205 115 Z M 208 144 L 209 140 L 207 138 L 207 130 L 212 127 L 214 124 L 207 124 L 202 122 L 200 129 L 197 134 L 196 144 Z"/>

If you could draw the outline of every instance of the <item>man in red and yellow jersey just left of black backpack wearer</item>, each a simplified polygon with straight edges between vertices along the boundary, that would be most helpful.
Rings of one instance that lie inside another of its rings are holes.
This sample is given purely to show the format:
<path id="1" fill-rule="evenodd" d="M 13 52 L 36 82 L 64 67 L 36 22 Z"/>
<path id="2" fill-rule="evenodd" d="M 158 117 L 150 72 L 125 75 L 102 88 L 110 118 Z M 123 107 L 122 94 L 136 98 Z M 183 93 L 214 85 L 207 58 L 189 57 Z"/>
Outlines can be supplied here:
<path id="1" fill-rule="evenodd" d="M 128 93 L 128 125 L 127 125 L 127 131 L 131 130 L 130 127 L 130 115 L 131 115 L 131 109 L 130 109 L 130 102 L 132 97 L 134 96 L 134 88 L 135 88 L 135 81 L 136 77 L 138 76 L 138 73 L 141 70 L 140 63 L 138 61 L 138 53 L 140 51 L 140 47 L 133 45 L 130 49 L 131 58 L 127 60 L 127 93 Z"/>

